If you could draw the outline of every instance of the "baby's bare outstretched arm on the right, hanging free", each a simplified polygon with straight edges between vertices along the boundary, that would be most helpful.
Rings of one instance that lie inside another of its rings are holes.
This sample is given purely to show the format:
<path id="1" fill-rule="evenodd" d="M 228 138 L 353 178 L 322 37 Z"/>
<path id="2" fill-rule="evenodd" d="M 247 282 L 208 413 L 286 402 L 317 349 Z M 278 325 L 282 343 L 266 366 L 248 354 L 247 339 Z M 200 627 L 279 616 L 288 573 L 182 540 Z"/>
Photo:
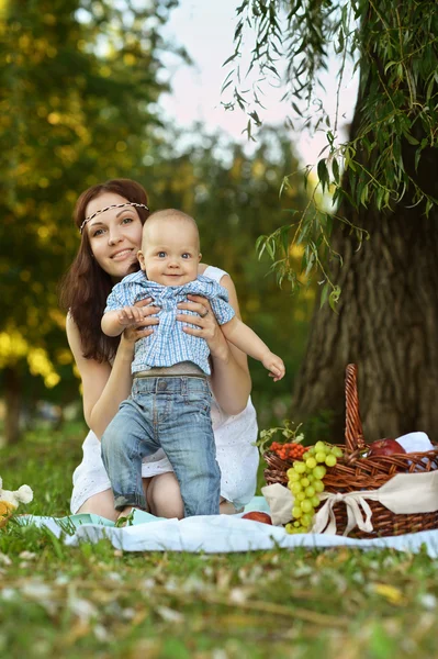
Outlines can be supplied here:
<path id="1" fill-rule="evenodd" d="M 221 330 L 229 343 L 249 355 L 249 357 L 261 361 L 265 368 L 270 371 L 276 382 L 284 377 L 285 368 L 283 360 L 271 353 L 266 343 L 248 325 L 239 321 L 239 319 L 234 316 L 228 323 L 222 325 Z"/>

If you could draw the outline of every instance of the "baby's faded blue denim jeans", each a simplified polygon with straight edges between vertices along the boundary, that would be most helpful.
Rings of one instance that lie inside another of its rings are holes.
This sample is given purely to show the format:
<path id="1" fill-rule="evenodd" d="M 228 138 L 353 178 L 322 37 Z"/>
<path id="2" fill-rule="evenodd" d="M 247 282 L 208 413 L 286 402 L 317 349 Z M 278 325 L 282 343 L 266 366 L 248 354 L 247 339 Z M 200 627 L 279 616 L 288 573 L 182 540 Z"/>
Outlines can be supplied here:
<path id="1" fill-rule="evenodd" d="M 102 436 L 116 510 L 146 509 L 142 460 L 162 447 L 180 484 L 184 515 L 218 514 L 221 470 L 210 410 L 204 378 L 134 378 L 131 396 Z"/>

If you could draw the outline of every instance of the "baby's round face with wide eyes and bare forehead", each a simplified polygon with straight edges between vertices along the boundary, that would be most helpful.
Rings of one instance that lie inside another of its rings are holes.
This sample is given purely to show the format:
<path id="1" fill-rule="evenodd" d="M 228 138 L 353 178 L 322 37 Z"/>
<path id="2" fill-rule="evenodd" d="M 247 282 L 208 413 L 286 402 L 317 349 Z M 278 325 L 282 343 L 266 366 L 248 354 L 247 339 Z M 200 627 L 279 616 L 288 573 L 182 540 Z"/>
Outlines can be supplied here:
<path id="1" fill-rule="evenodd" d="M 146 224 L 138 260 L 147 278 L 164 286 L 182 286 L 196 279 L 201 260 L 196 228 L 180 219 L 157 220 L 148 227 Z"/>

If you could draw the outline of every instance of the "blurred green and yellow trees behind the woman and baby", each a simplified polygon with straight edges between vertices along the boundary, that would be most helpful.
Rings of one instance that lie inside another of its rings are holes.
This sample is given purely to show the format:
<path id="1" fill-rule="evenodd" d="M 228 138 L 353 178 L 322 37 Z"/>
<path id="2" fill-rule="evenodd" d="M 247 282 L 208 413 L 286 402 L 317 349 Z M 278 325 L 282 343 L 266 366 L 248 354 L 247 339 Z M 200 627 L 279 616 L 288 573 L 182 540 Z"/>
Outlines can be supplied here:
<path id="1" fill-rule="evenodd" d="M 203 260 L 229 272 L 244 321 L 287 365 L 274 386 L 250 362 L 260 426 L 288 411 L 315 290 L 294 299 L 280 290 L 255 244 L 284 223 L 288 208 L 306 203 L 300 187 L 279 196 L 299 168 L 293 146 L 279 127 L 263 129 L 249 153 L 202 126 L 180 135 L 166 125 L 157 107 L 166 90 L 161 58 L 170 51 L 188 58 L 160 33 L 176 3 L 141 4 L 0 0 L 3 444 L 18 442 L 41 414 L 57 423 L 66 410 L 81 417 L 58 282 L 79 245 L 77 197 L 113 177 L 138 180 L 153 210 L 176 206 L 196 219 Z M 300 250 L 292 256 L 300 259 Z"/>

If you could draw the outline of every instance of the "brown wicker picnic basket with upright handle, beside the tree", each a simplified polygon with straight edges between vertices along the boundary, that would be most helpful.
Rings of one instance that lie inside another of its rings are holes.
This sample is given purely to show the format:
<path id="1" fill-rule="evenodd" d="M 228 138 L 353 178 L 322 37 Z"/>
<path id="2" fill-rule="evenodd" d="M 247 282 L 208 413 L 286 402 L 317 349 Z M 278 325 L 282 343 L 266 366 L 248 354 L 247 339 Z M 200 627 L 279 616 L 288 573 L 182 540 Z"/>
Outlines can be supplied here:
<path id="1" fill-rule="evenodd" d="M 346 432 L 345 445 L 339 445 L 345 454 L 338 459 L 336 467 L 327 470 L 324 478 L 327 492 L 356 492 L 358 490 L 377 490 L 400 472 L 428 472 L 438 468 L 438 448 L 427 453 L 409 453 L 392 456 L 363 457 L 368 446 L 363 439 L 362 423 L 359 414 L 357 391 L 357 366 L 349 364 L 346 372 Z M 287 470 L 291 460 L 282 460 L 274 453 L 263 456 L 268 463 L 265 479 L 268 484 L 287 485 Z M 351 536 L 357 538 L 374 538 L 402 535 L 418 530 L 438 528 L 438 511 L 435 513 L 416 513 L 397 515 L 377 501 L 368 502 L 372 510 L 373 532 L 366 533 L 355 528 Z M 334 506 L 337 533 L 341 535 L 347 526 L 347 509 L 342 502 Z"/>

